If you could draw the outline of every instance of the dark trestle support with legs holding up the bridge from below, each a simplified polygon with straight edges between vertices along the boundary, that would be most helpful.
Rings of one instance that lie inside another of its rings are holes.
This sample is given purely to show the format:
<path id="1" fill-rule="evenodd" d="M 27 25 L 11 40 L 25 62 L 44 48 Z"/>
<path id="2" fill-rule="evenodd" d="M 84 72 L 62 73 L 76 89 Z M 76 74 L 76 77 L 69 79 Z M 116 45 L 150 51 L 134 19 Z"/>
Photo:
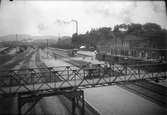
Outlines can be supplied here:
<path id="1" fill-rule="evenodd" d="M 34 106 L 43 98 L 48 96 L 59 96 L 63 95 L 68 99 L 71 99 L 71 113 L 76 114 L 76 106 L 80 106 L 80 115 L 85 115 L 85 104 L 84 104 L 84 92 L 82 90 L 59 90 L 50 92 L 36 92 L 36 93 L 19 93 L 18 97 L 18 114 L 28 114 L 34 108 Z M 80 101 L 80 105 L 78 104 Z M 25 104 L 30 103 L 26 111 L 22 111 Z"/>

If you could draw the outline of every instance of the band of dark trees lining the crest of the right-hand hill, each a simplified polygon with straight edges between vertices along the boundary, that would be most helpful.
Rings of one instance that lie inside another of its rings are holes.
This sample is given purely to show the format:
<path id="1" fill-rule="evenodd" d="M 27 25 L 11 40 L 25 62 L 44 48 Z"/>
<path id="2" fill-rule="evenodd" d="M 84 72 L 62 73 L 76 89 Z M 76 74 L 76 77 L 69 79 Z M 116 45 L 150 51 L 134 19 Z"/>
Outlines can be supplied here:
<path id="1" fill-rule="evenodd" d="M 79 48 L 81 45 L 85 45 L 87 49 L 96 49 L 100 43 L 106 43 L 113 38 L 123 39 L 127 35 L 140 37 L 140 39 L 149 39 L 152 43 L 158 43 L 156 48 L 166 48 L 167 30 L 162 29 L 160 25 L 155 23 L 146 24 L 120 24 L 110 27 L 102 27 L 98 29 L 91 29 L 85 34 L 73 34 L 72 46 Z M 103 44 L 105 45 L 105 44 Z M 142 46 L 141 46 L 142 47 Z"/>

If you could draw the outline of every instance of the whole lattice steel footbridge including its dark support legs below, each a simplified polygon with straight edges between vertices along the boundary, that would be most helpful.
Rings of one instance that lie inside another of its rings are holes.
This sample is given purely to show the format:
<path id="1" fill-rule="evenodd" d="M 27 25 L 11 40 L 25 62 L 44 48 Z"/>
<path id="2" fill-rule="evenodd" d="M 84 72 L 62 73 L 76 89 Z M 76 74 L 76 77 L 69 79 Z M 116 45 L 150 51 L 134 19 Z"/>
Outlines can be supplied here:
<path id="1" fill-rule="evenodd" d="M 18 97 L 18 113 L 32 102 L 32 106 L 46 96 L 64 95 L 72 100 L 72 115 L 80 106 L 84 115 L 84 93 L 82 89 L 124 84 L 138 80 L 166 79 L 166 63 L 160 64 L 110 64 L 77 68 L 74 66 L 30 68 L 0 72 L 0 95 Z"/>

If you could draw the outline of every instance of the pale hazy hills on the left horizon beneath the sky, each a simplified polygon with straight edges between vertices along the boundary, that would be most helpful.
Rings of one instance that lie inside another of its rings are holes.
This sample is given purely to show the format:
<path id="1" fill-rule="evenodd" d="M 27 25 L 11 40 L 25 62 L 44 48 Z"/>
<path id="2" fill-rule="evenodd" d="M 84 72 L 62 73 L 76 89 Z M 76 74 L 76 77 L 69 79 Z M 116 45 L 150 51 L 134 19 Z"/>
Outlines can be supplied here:
<path id="1" fill-rule="evenodd" d="M 68 36 L 31 36 L 31 35 L 6 35 L 6 36 L 0 36 L 0 46 L 15 46 L 15 45 L 34 45 L 34 46 L 43 46 L 45 47 L 47 45 L 55 46 L 57 44 L 58 40 L 64 40 L 69 39 Z"/>

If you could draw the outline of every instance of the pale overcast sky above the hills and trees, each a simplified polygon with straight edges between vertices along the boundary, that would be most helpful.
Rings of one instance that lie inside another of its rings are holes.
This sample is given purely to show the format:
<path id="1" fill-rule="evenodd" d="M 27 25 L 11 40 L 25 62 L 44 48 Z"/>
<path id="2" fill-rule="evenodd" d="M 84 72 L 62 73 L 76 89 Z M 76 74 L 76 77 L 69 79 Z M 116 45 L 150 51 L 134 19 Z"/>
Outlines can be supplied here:
<path id="1" fill-rule="evenodd" d="M 0 36 L 8 34 L 71 36 L 92 28 L 153 22 L 167 29 L 163 1 L 1 1 Z"/>

